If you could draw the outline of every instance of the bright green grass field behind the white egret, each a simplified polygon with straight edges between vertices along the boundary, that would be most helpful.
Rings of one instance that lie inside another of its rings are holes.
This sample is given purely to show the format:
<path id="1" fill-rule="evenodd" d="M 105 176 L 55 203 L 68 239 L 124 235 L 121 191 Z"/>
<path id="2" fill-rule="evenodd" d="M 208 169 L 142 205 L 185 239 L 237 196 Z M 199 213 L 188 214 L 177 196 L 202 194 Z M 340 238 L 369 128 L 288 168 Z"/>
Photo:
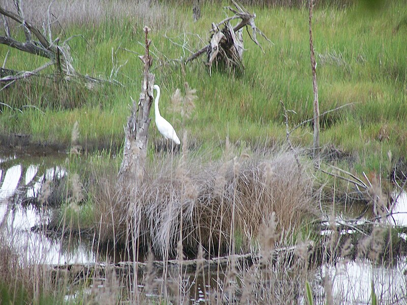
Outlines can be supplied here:
<path id="1" fill-rule="evenodd" d="M 244 34 L 246 70 L 243 75 L 213 71 L 210 77 L 202 64 L 204 56 L 190 63 L 185 75 L 177 66 L 159 66 L 157 56 L 160 59 L 164 56 L 181 58 L 184 54 L 183 49 L 165 35 L 183 44 L 184 33 L 187 33 L 190 50 L 203 46 L 192 33 L 208 41 L 211 22 L 221 20 L 224 13 L 211 5 L 203 5 L 201 10 L 202 18 L 196 23 L 192 22 L 190 8 L 181 6 L 175 13 L 176 21 L 171 23 L 159 15 L 163 22 L 151 25 L 151 50 L 155 54 L 153 72 L 156 83 L 162 88 L 162 115 L 171 121 L 179 134 L 188 130 L 190 137 L 205 147 L 218 145 L 226 136 L 232 142 L 284 141 L 280 100 L 287 109 L 295 111 L 289 112 L 290 128 L 311 118 L 313 113 L 308 11 L 249 7 L 249 11 L 256 12 L 257 26 L 272 43 L 259 38 L 265 50 L 262 53 L 247 33 Z M 359 156 L 355 165 L 358 171 L 380 171 L 380 160 L 386 157 L 388 150 L 392 151 L 394 161 L 405 157 L 407 151 L 407 56 L 404 47 L 407 27 L 403 26 L 406 15 L 403 1 L 394 1 L 382 12 L 374 14 L 361 15 L 357 8 L 332 7 L 314 12 L 320 111 L 352 103 L 321 118 L 321 143 L 334 144 Z M 137 55 L 124 49 L 143 53 L 143 46 L 139 44 L 143 41 L 142 20 L 155 20 L 143 18 L 102 19 L 93 26 L 67 23 L 64 38 L 82 35 L 70 41 L 75 68 L 83 74 L 107 79 L 113 68 L 113 50 L 116 67 L 127 62 L 117 75 L 123 86 L 104 84 L 90 90 L 81 83 L 55 84 L 44 78 L 13 84 L 0 92 L 0 99 L 23 113 L 3 107 L 2 133 L 31 134 L 34 142 L 69 146 L 73 124 L 78 121 L 79 142 L 83 147 L 88 143 L 93 143 L 90 147 L 99 148 L 120 146 L 130 97 L 138 98 L 142 76 Z M 1 62 L 8 49 L 0 46 Z M 189 55 L 187 51 L 186 55 Z M 6 68 L 30 70 L 42 63 L 42 58 L 10 49 Z M 46 72 L 51 72 L 51 68 Z M 172 93 L 176 88 L 182 90 L 184 82 L 196 88 L 198 96 L 193 115 L 185 120 L 173 113 L 169 104 Z M 22 107 L 24 105 L 36 106 L 43 112 L 34 107 Z M 388 136 L 379 139 L 381 129 L 386 129 Z M 150 143 L 161 139 L 154 121 L 150 131 Z M 312 126 L 307 124 L 296 130 L 292 141 L 310 147 Z"/>

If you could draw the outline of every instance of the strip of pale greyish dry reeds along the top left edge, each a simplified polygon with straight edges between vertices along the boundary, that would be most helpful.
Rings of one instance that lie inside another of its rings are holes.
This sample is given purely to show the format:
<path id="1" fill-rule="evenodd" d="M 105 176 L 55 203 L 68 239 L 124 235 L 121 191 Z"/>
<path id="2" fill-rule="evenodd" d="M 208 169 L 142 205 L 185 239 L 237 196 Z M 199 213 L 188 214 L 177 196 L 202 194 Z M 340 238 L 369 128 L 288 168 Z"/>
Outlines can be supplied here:
<path id="1" fill-rule="evenodd" d="M 12 1 L 6 2 L 4 8 L 15 12 Z M 97 5 L 92 0 L 25 0 L 22 1 L 22 10 L 26 20 L 39 28 L 42 28 L 43 22 L 50 22 L 50 26 L 57 30 L 69 25 L 95 26 L 108 20 L 123 22 L 124 18 L 132 24 L 148 24 L 152 28 L 177 28 L 182 25 L 173 18 L 176 9 L 149 0 L 100 1 Z"/>

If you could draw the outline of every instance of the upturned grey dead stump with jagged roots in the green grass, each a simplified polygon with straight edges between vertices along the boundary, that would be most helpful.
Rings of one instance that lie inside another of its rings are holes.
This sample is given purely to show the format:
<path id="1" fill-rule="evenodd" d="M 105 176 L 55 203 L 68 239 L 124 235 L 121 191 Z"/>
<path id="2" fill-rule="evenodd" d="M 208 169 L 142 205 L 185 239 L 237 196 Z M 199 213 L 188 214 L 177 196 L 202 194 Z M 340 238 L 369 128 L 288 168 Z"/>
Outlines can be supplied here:
<path id="1" fill-rule="evenodd" d="M 227 17 L 216 24 L 212 23 L 211 32 L 213 32 L 213 34 L 209 44 L 189 56 L 185 60 L 185 64 L 206 53 L 207 65 L 210 67 L 210 70 L 215 63 L 216 65 L 223 64 L 232 70 L 239 69 L 240 71 L 243 71 L 243 28 L 247 28 L 247 26 L 252 28 L 251 35 L 247 32 L 250 39 L 260 47 L 261 51 L 264 52 L 263 48 L 257 41 L 257 34 L 263 36 L 269 42 L 270 40 L 256 27 L 254 23 L 256 14 L 249 13 L 244 7 L 239 6 L 233 0 L 232 3 L 236 9 L 232 7 L 227 7 L 226 9 L 234 13 L 234 15 Z M 240 22 L 236 26 L 232 26 L 230 21 L 235 19 L 240 19 Z M 222 25 L 223 28 L 220 29 L 220 26 Z"/>

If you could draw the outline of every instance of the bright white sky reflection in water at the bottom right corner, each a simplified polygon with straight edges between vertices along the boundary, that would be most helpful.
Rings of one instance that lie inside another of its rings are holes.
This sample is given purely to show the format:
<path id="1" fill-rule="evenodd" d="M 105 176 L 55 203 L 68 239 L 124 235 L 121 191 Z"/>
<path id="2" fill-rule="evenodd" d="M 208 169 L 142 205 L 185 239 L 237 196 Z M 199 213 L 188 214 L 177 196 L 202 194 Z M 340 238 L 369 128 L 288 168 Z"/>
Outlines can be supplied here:
<path id="1" fill-rule="evenodd" d="M 405 257 L 394 268 L 374 266 L 367 260 L 339 261 L 335 267 L 322 266 L 322 276 L 330 276 L 335 303 L 370 304 L 373 281 L 378 300 L 387 304 L 407 294 L 402 273 L 406 267 Z"/>

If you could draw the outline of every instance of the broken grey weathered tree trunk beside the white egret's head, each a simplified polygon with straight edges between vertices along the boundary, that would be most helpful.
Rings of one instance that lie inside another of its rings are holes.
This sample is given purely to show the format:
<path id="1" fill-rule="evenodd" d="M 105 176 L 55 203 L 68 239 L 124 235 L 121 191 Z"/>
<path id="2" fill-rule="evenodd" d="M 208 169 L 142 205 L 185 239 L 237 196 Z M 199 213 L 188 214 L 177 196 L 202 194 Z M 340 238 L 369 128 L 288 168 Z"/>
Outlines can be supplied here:
<path id="1" fill-rule="evenodd" d="M 151 41 L 148 39 L 150 29 L 144 27 L 146 35 L 146 50 L 140 59 L 144 63 L 143 81 L 140 99 L 136 104 L 133 101 L 131 114 L 125 126 L 125 147 L 122 165 L 119 171 L 119 182 L 122 186 L 135 187 L 142 183 L 145 171 L 150 109 L 153 103 L 154 74 L 150 73 L 152 57 L 149 53 Z"/>

